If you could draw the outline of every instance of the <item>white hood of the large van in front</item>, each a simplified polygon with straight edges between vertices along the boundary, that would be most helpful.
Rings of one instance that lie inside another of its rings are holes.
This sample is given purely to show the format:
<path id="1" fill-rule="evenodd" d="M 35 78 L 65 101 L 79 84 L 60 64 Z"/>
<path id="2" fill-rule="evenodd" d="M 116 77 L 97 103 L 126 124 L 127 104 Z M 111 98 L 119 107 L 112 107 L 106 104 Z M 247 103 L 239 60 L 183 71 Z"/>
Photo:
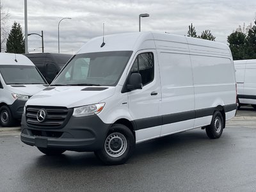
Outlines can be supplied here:
<path id="1" fill-rule="evenodd" d="M 114 93 L 113 86 L 49 86 L 33 95 L 26 105 L 76 108 L 99 103 Z"/>

